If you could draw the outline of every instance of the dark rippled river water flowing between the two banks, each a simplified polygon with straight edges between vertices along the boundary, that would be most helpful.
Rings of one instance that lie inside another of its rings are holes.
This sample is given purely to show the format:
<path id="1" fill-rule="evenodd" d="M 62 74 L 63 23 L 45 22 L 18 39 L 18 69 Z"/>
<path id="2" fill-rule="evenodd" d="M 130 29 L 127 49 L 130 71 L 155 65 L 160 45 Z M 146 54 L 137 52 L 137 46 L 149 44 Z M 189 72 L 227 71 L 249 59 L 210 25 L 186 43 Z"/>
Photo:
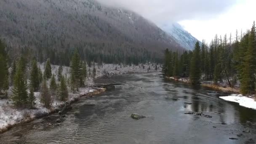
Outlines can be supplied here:
<path id="1" fill-rule="evenodd" d="M 109 83 L 109 80 L 96 82 Z M 61 118 L 60 125 L 56 125 L 59 116 L 54 114 L 12 128 L 0 135 L 0 143 L 243 144 L 249 139 L 256 141 L 256 130 L 246 124 L 247 120 L 256 122 L 256 111 L 218 98 L 227 93 L 168 82 L 160 73 L 117 75 L 111 82 L 122 85 L 93 98 L 82 98 Z M 212 117 L 184 114 L 190 111 Z M 134 120 L 130 117 L 134 112 L 146 118 Z M 240 133 L 243 136 L 238 137 Z"/>

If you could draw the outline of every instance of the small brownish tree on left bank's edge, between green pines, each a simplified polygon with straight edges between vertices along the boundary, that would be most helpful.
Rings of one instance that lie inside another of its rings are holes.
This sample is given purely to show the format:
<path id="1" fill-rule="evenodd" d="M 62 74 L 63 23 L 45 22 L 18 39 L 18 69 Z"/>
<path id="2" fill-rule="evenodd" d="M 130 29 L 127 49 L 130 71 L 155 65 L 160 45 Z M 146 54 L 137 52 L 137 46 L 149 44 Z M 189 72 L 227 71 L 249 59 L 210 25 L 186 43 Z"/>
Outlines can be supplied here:
<path id="1" fill-rule="evenodd" d="M 49 92 L 49 88 L 47 86 L 46 80 L 43 80 L 43 83 L 41 86 L 41 102 L 44 104 L 45 108 L 47 109 L 51 108 L 51 105 L 53 103 L 53 99 Z"/>

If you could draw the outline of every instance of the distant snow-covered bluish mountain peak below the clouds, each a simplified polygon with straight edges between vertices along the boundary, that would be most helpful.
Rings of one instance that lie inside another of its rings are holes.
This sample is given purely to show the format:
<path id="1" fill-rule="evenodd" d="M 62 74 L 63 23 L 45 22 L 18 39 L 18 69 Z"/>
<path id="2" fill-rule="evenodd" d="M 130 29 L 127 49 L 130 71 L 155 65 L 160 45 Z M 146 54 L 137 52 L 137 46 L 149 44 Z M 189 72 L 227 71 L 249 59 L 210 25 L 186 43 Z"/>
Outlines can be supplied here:
<path id="1" fill-rule="evenodd" d="M 176 42 L 187 50 L 193 50 L 197 39 L 187 32 L 178 23 L 165 24 L 161 27 L 165 32 L 175 38 Z M 200 42 L 201 43 L 201 42 Z"/>

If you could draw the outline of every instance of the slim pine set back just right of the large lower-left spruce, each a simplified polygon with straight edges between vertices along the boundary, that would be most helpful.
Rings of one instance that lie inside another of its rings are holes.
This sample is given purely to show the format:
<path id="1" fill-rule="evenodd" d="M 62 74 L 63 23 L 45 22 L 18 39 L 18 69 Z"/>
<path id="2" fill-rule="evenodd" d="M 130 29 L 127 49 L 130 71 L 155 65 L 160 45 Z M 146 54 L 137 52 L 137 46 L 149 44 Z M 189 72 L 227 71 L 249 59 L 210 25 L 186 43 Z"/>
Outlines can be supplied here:
<path id="1" fill-rule="evenodd" d="M 33 60 L 32 61 L 32 69 L 30 71 L 30 87 L 33 88 L 33 91 L 39 91 L 40 89 L 40 77 L 39 77 L 39 72 L 38 72 L 38 67 L 37 67 L 37 61 Z"/>

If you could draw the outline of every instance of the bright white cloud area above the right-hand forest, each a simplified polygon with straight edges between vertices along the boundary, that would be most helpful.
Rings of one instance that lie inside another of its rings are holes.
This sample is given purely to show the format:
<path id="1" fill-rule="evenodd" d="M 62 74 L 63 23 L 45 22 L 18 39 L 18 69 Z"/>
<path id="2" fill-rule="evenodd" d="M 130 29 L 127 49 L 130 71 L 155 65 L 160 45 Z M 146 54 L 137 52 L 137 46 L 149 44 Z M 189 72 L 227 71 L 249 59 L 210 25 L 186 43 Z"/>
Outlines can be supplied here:
<path id="1" fill-rule="evenodd" d="M 224 36 L 232 33 L 234 40 L 236 29 L 238 29 L 240 36 L 241 29 L 246 32 L 256 20 L 255 6 L 256 0 L 240 0 L 227 12 L 215 18 L 184 20 L 179 21 L 179 23 L 198 40 L 205 39 L 207 43 L 210 43 L 216 34 Z"/>

